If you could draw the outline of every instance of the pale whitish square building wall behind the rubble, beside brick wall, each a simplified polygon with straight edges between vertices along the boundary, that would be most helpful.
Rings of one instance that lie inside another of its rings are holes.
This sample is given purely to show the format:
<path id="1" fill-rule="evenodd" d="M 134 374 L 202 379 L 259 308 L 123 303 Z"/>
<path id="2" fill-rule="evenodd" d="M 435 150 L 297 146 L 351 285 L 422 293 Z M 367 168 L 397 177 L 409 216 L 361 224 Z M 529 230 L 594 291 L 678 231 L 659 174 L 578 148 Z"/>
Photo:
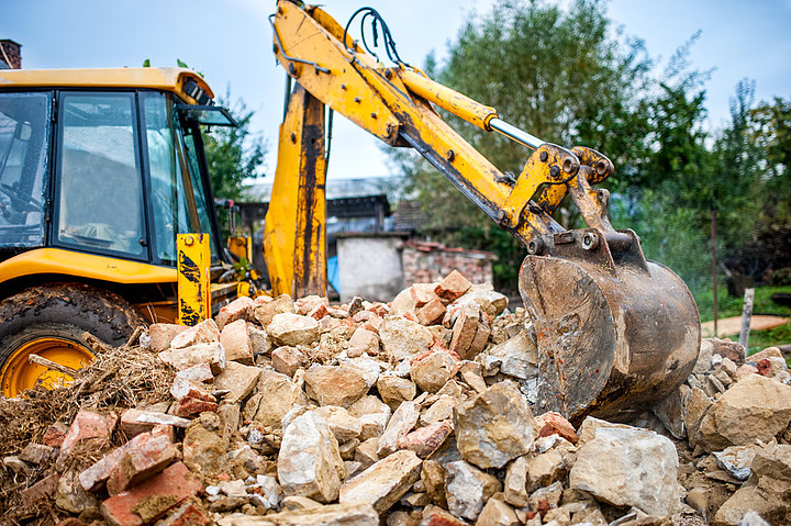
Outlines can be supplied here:
<path id="1" fill-rule="evenodd" d="M 338 237 L 341 301 L 355 295 L 370 301 L 392 301 L 404 288 L 400 246 L 402 237 Z"/>

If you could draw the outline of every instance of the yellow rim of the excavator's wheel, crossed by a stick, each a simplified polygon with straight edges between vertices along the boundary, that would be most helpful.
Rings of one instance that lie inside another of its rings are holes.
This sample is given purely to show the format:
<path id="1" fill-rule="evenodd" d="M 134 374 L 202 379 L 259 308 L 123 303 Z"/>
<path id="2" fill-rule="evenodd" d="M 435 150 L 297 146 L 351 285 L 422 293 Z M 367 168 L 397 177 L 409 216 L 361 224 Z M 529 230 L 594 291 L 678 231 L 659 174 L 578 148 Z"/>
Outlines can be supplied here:
<path id="1" fill-rule="evenodd" d="M 2 393 L 7 398 L 18 396 L 26 389 L 41 382 L 46 389 L 68 384 L 74 378 L 53 371 L 38 363 L 30 363 L 27 357 L 38 355 L 70 369 L 81 369 L 93 361 L 93 354 L 71 340 L 54 336 L 36 338 L 13 351 L 0 370 Z"/>

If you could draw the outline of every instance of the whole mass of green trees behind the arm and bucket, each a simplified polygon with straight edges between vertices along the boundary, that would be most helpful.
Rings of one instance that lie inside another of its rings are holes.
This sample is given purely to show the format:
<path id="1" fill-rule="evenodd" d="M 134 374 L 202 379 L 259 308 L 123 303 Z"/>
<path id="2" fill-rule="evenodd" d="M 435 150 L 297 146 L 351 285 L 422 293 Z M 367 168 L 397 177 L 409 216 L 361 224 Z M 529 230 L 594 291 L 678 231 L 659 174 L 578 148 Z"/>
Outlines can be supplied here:
<path id="1" fill-rule="evenodd" d="M 547 142 L 608 155 L 616 168 L 605 183 L 613 224 L 634 228 L 646 256 L 691 288 L 712 279 L 713 217 L 720 261 L 791 265 L 784 234 L 791 233 L 791 100 L 756 103 L 755 82 L 744 79 L 729 122 L 711 130 L 704 125 L 711 70 L 689 60 L 700 33 L 657 74 L 638 38 L 613 31 L 605 7 L 598 0 L 577 0 L 566 10 L 499 0 L 470 16 L 444 64 L 430 55 L 425 70 Z M 441 113 L 501 170 L 521 171 L 530 150 Z M 391 155 L 430 212 L 424 233 L 495 251 L 495 281 L 513 287 L 523 248 L 425 160 L 403 150 Z M 582 226 L 568 200 L 555 219 Z"/>

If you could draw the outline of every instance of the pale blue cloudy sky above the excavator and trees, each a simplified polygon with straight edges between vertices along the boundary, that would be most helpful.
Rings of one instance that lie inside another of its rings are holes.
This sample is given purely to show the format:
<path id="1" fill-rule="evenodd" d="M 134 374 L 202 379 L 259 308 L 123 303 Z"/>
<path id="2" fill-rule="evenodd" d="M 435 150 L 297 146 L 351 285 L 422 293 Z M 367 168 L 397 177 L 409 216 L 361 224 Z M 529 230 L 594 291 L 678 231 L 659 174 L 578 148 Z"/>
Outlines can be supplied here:
<path id="1" fill-rule="evenodd" d="M 357 8 L 376 8 L 401 57 L 422 65 L 432 49 L 442 60 L 465 21 L 493 1 L 327 0 L 324 9 L 345 25 Z M 701 31 L 690 59 L 694 68 L 713 68 L 705 85 L 712 130 L 727 121 L 728 98 L 739 79 L 756 81 L 757 100 L 791 97 L 791 0 L 611 0 L 605 5 L 624 34 L 643 38 L 660 64 Z M 230 92 L 255 111 L 252 127 L 268 143 L 265 172 L 271 180 L 285 91 L 285 71 L 271 53 L 274 10 L 269 0 L 0 0 L 0 38 L 22 44 L 24 68 L 137 67 L 146 58 L 153 66 L 175 66 L 177 58 L 187 63 L 215 94 Z M 392 175 L 380 144 L 336 117 L 327 177 Z"/>

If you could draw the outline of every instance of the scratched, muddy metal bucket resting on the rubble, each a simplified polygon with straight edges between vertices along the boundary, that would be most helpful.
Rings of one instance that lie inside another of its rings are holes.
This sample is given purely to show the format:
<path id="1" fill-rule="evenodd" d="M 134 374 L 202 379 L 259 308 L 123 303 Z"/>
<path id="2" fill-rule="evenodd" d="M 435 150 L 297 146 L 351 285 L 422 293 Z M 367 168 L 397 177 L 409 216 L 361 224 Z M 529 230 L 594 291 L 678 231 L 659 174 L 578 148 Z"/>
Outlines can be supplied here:
<path id="1" fill-rule="evenodd" d="M 546 236 L 553 254 L 522 264 L 520 291 L 538 340 L 539 413 L 557 411 L 573 424 L 588 415 L 625 421 L 694 367 L 700 322 L 687 286 L 646 261 L 633 232 L 619 234 L 619 249 L 595 228 Z"/>

